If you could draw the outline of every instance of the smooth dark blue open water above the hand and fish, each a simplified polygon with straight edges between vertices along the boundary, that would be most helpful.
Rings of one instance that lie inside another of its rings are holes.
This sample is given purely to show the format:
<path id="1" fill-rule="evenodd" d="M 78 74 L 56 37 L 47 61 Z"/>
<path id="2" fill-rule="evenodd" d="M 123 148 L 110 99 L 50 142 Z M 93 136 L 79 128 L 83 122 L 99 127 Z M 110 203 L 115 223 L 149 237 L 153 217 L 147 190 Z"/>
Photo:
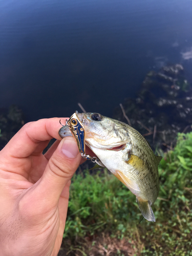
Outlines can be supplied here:
<path id="1" fill-rule="evenodd" d="M 112 116 L 152 69 L 179 62 L 192 81 L 191 47 L 191 0 L 0 0 L 0 108 Z"/>

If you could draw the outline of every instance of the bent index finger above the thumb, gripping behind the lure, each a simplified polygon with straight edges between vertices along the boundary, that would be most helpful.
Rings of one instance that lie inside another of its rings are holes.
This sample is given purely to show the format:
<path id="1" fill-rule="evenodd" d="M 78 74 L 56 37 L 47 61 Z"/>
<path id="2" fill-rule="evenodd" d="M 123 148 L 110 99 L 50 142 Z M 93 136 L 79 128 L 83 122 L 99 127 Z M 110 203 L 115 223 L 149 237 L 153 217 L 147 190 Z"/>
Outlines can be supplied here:
<path id="1" fill-rule="evenodd" d="M 1 154 L 6 152 L 15 158 L 25 158 L 31 154 L 42 153 L 49 140 L 61 140 L 58 134 L 61 127 L 60 119 L 65 125 L 66 118 L 58 117 L 26 123 L 3 148 Z"/>

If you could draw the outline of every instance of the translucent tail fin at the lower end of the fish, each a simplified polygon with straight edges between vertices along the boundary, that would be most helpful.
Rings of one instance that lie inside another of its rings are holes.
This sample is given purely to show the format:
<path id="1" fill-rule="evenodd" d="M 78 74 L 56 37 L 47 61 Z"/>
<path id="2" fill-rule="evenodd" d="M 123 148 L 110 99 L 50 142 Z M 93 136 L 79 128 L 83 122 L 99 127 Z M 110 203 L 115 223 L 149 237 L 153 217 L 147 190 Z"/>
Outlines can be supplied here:
<path id="1" fill-rule="evenodd" d="M 155 221 L 155 216 L 151 207 L 151 202 L 142 200 L 141 198 L 137 198 L 137 202 L 142 216 L 147 221 Z"/>

